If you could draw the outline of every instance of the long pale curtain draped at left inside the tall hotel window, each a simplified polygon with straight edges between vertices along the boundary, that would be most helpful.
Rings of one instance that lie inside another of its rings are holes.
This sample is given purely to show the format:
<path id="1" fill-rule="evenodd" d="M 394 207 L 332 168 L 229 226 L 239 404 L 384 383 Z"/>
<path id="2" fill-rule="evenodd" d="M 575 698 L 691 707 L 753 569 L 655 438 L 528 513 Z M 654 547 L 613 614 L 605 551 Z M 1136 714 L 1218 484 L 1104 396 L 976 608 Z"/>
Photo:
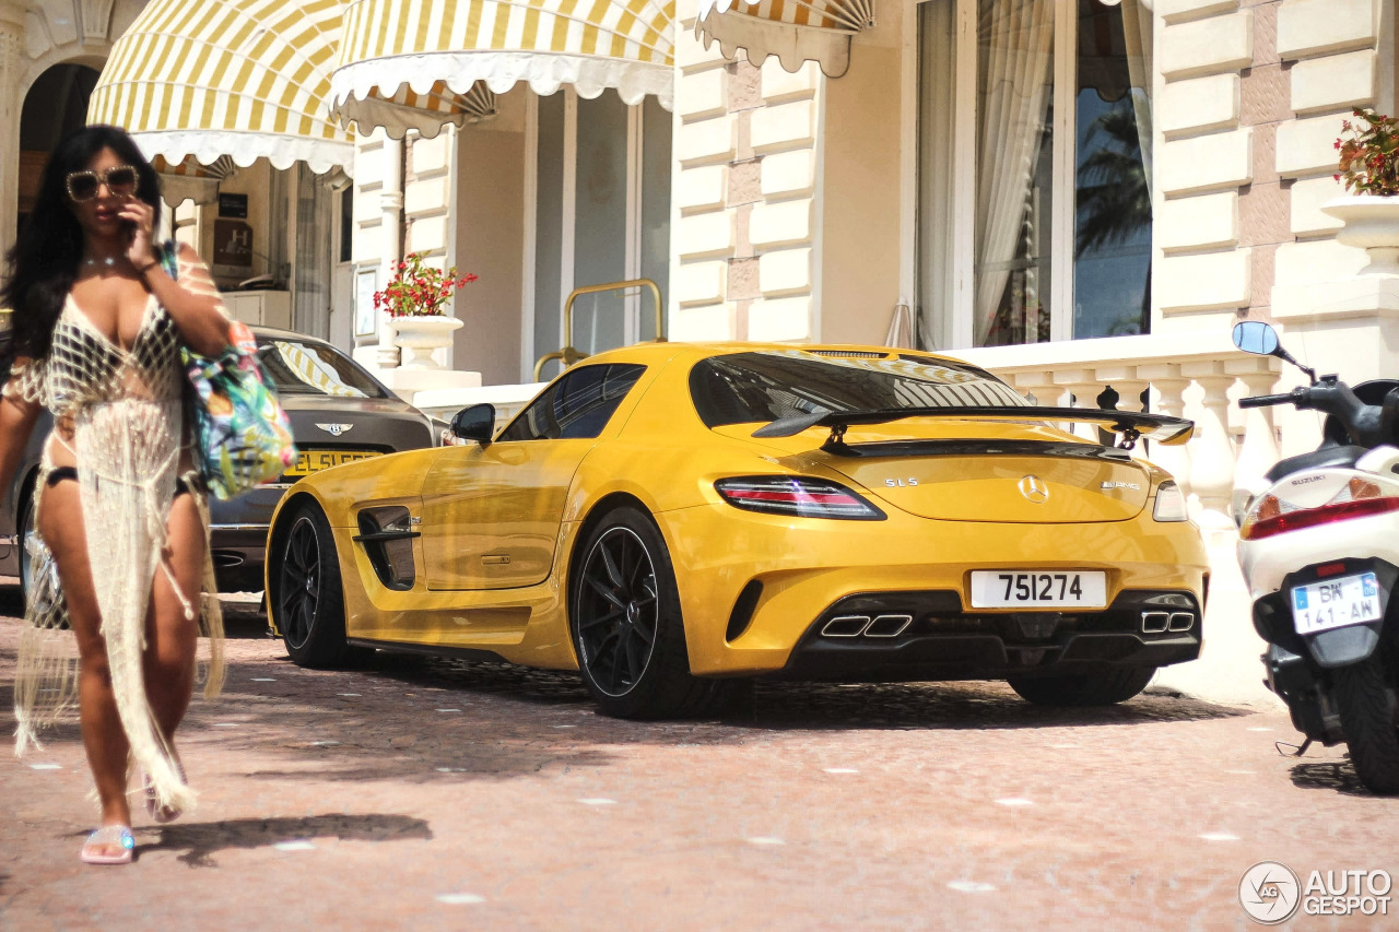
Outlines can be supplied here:
<path id="1" fill-rule="evenodd" d="M 979 20 L 978 346 L 996 322 L 1010 274 L 1003 266 L 1016 257 L 1024 235 L 1051 102 L 1053 0 L 981 0 Z"/>

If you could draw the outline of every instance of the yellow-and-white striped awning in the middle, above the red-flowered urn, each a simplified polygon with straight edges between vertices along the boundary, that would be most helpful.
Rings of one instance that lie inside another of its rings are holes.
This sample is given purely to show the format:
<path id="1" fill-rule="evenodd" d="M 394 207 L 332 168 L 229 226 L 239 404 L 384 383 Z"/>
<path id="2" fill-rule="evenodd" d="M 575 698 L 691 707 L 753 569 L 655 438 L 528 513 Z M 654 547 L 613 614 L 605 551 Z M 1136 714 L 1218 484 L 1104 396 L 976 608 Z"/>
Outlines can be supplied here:
<path id="1" fill-rule="evenodd" d="M 330 78 L 333 112 L 361 132 L 435 136 L 480 119 L 484 94 L 572 84 L 670 109 L 674 0 L 353 0 Z"/>

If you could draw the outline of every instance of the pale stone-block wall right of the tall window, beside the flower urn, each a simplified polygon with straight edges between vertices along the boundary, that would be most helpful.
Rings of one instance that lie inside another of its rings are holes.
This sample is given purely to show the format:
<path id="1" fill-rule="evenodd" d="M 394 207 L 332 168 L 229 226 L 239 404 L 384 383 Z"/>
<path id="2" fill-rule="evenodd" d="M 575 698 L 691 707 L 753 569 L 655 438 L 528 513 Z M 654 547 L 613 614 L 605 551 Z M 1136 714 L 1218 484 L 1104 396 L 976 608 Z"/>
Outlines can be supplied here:
<path id="1" fill-rule="evenodd" d="M 1311 285 L 1364 264 L 1319 207 L 1342 193 L 1342 120 L 1393 99 L 1381 11 L 1379 0 L 1157 3 L 1163 332 L 1207 326 L 1202 312 L 1309 318 Z"/>

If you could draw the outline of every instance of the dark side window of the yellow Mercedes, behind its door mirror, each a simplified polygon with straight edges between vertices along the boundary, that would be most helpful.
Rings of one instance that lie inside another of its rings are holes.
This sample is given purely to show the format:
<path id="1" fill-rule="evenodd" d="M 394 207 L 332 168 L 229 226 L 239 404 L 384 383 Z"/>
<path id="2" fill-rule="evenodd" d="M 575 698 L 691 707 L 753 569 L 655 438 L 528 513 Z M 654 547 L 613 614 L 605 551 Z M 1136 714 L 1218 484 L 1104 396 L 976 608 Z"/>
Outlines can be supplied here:
<path id="1" fill-rule="evenodd" d="M 597 437 L 645 371 L 644 365 L 625 364 L 576 367 L 534 399 L 495 439 Z"/>

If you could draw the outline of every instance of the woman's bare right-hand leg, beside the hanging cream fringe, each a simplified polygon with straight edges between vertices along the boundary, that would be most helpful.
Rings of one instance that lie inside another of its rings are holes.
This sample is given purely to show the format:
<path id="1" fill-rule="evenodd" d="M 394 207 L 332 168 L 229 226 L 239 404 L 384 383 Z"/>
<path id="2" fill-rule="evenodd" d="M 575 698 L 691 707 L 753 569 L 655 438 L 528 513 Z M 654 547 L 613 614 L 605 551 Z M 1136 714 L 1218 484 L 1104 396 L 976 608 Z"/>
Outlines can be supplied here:
<path id="1" fill-rule="evenodd" d="M 194 691 L 194 649 L 199 644 L 200 586 L 204 579 L 204 526 L 193 495 L 176 495 L 166 522 L 166 557 L 194 620 L 171 586 L 169 575 L 155 570 L 151 602 L 145 612 L 145 694 L 165 742 L 175 746 L 175 729 L 189 709 Z"/>

